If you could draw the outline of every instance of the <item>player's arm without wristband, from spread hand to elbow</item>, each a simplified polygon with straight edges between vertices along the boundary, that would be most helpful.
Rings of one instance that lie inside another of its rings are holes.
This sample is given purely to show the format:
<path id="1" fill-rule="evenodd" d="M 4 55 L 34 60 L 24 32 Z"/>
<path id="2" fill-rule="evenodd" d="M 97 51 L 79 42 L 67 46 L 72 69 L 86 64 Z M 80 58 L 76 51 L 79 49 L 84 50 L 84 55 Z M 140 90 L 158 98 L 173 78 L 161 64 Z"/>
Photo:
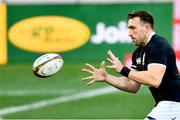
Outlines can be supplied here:
<path id="1" fill-rule="evenodd" d="M 91 74 L 89 77 L 83 78 L 83 80 L 90 81 L 87 85 L 92 84 L 94 82 L 106 82 L 120 90 L 136 93 L 139 90 L 140 84 L 138 82 L 132 81 L 126 77 L 116 77 L 110 75 L 105 70 L 105 62 L 101 63 L 101 67 L 96 69 L 91 64 L 86 64 L 87 68 L 83 68 L 83 72 L 87 72 Z"/>

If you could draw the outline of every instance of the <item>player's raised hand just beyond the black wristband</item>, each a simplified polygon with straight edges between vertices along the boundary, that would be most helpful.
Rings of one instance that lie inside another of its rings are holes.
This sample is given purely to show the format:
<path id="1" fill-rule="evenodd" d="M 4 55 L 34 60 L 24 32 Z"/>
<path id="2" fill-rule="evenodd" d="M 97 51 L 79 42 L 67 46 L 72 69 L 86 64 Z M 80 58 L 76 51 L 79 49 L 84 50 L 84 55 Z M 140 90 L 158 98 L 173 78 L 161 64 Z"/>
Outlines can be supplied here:
<path id="1" fill-rule="evenodd" d="M 113 68 L 116 70 L 116 72 L 120 72 L 121 69 L 123 68 L 123 65 L 121 61 L 116 57 L 111 50 L 108 50 L 107 54 L 109 55 L 110 58 L 107 58 L 107 60 L 112 63 L 112 65 L 106 66 L 107 68 Z"/>

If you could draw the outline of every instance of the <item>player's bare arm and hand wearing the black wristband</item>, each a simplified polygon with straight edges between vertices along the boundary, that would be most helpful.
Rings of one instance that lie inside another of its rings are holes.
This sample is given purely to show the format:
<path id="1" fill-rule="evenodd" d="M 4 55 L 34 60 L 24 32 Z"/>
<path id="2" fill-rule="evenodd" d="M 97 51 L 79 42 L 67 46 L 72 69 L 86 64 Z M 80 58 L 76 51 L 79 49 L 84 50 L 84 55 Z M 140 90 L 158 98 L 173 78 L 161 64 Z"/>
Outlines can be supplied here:
<path id="1" fill-rule="evenodd" d="M 122 73 L 121 71 L 125 71 L 125 73 L 128 73 L 128 71 L 130 71 L 125 76 L 141 84 L 145 84 L 155 88 L 159 87 L 159 85 L 161 84 L 163 75 L 166 71 L 165 65 L 151 63 L 148 65 L 147 71 L 133 71 L 128 70 L 128 68 L 124 69 L 123 65 L 121 64 L 121 61 L 119 61 L 119 59 L 115 57 L 115 55 L 110 50 L 107 54 L 109 54 L 110 56 L 110 58 L 108 58 L 108 61 L 112 63 L 111 66 L 107 66 L 108 68 L 113 68 L 119 73 Z"/>

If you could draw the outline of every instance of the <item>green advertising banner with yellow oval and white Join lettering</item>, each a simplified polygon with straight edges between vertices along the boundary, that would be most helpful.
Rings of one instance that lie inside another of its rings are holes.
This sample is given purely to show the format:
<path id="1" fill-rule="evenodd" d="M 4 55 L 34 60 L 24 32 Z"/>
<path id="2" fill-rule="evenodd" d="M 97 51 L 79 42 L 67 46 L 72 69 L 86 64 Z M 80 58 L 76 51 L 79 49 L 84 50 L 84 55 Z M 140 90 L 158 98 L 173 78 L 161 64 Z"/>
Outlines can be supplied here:
<path id="1" fill-rule="evenodd" d="M 65 62 L 101 61 L 107 58 L 107 50 L 111 49 L 120 59 L 124 59 L 135 48 L 127 35 L 127 14 L 133 10 L 146 10 L 155 18 L 155 31 L 172 42 L 172 4 L 75 4 L 75 5 L 9 5 L 8 6 L 8 49 L 9 62 L 32 62 L 40 54 L 53 52 L 33 51 L 23 46 L 32 45 L 40 48 L 43 44 L 54 41 L 73 41 L 74 38 L 84 42 L 73 49 L 55 52 L 61 54 Z M 78 21 L 85 29 L 74 22 L 49 20 L 48 16 L 64 17 Z M 24 21 L 29 24 L 24 24 Z M 45 22 L 46 21 L 46 22 Z M 36 22 L 36 23 L 35 23 Z M 57 25 L 57 26 L 56 26 Z M 60 25 L 60 26 L 59 26 Z M 72 27 L 74 26 L 74 27 Z M 17 34 L 16 32 L 18 31 Z M 89 31 L 89 32 L 88 32 Z M 16 36 L 12 37 L 12 34 Z M 89 34 L 89 35 L 88 35 Z M 29 36 L 29 37 L 28 37 Z M 83 36 L 86 36 L 83 38 Z M 40 40 L 41 39 L 41 40 Z M 42 43 L 38 43 L 38 40 Z M 16 42 L 16 43 L 14 43 Z M 32 43 L 30 43 L 32 42 Z M 35 44 L 38 43 L 38 44 Z M 20 45 L 21 44 L 21 45 Z M 72 47 L 76 43 L 56 43 L 56 47 Z M 46 45 L 44 45 L 45 47 Z"/>

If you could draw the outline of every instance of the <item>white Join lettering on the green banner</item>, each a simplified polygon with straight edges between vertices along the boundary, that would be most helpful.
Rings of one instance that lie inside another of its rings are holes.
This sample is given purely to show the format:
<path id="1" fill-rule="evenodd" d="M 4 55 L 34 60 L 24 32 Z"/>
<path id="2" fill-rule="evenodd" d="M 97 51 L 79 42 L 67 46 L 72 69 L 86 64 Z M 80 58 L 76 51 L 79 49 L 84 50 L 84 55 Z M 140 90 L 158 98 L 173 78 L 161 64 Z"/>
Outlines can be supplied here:
<path id="1" fill-rule="evenodd" d="M 96 34 L 91 36 L 91 42 L 94 44 L 116 43 L 131 43 L 131 38 L 128 36 L 127 23 L 120 21 L 118 26 L 108 26 L 105 23 L 99 22 L 96 25 Z"/>

